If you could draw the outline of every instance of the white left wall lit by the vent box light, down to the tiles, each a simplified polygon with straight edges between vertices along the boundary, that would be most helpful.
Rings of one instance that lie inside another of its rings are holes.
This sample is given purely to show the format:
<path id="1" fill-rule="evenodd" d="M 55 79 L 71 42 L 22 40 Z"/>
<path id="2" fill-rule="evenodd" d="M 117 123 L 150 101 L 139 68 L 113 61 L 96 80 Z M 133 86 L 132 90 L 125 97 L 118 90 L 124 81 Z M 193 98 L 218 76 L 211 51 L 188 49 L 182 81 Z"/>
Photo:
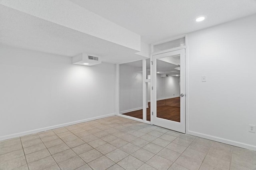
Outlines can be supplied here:
<path id="1" fill-rule="evenodd" d="M 115 113 L 115 65 L 71 60 L 0 45 L 0 140 Z"/>

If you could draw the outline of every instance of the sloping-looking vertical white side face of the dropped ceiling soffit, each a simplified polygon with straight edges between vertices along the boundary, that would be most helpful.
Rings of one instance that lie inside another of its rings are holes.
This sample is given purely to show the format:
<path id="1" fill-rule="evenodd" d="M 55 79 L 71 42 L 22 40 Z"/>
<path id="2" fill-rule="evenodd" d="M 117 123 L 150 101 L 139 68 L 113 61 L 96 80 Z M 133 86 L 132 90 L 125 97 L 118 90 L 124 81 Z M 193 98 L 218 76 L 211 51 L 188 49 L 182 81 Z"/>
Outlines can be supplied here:
<path id="1" fill-rule="evenodd" d="M 60 26 L 140 51 L 140 35 L 68 0 L 0 0 L 0 4 Z M 12 17 L 8 13 L 5 15 Z"/>

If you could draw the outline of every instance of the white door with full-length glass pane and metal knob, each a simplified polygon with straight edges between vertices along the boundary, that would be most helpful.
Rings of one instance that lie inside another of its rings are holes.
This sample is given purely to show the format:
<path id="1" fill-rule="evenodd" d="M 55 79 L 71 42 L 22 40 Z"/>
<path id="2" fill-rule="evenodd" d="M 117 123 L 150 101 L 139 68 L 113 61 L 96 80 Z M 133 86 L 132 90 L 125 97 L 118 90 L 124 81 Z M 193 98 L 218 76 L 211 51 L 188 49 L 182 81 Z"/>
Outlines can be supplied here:
<path id="1" fill-rule="evenodd" d="M 185 133 L 185 49 L 152 61 L 152 124 Z"/>

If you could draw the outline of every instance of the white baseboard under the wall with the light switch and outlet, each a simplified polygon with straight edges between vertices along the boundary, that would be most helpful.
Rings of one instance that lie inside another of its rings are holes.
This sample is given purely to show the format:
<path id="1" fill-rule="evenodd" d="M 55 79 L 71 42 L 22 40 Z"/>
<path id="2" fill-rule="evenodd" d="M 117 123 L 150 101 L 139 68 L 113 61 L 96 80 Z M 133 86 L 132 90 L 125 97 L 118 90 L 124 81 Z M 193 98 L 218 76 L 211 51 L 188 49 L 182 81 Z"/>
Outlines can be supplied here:
<path id="1" fill-rule="evenodd" d="M 187 131 L 187 134 L 191 134 L 193 136 L 198 136 L 198 137 L 201 137 L 201 138 L 206 138 L 206 139 L 209 139 L 209 140 L 214 140 L 214 141 L 217 141 L 217 142 L 230 144 L 230 145 L 237 146 L 237 147 L 240 147 L 240 148 L 245 148 L 245 149 L 250 149 L 250 150 L 256 151 L 256 146 L 251 145 L 251 144 L 237 142 L 237 141 L 234 141 L 234 140 L 220 138 L 220 137 L 217 137 L 217 136 L 211 136 L 211 135 L 208 135 L 208 134 L 203 134 L 203 133 L 194 132 L 194 131 L 190 131 L 190 130 Z"/>

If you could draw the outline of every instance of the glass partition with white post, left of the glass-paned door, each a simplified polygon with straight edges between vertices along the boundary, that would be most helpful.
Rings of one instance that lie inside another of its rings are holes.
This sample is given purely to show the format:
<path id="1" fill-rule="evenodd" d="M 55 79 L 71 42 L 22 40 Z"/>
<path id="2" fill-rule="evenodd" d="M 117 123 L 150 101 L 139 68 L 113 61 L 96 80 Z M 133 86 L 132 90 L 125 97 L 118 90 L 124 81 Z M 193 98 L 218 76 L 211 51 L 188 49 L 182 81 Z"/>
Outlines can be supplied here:
<path id="1" fill-rule="evenodd" d="M 150 124 L 150 59 L 119 64 L 118 72 L 120 116 Z"/>

